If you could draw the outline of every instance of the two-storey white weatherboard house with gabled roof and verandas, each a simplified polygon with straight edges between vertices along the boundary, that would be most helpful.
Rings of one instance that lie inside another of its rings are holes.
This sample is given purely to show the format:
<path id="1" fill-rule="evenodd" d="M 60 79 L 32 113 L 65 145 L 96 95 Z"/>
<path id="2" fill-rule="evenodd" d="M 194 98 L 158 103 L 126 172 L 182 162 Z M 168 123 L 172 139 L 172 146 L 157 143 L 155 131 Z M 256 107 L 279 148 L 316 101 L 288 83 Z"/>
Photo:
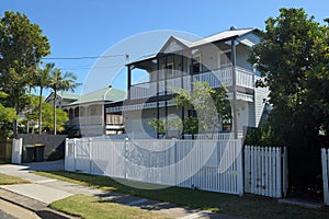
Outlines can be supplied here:
<path id="1" fill-rule="evenodd" d="M 214 89 L 225 85 L 228 99 L 236 103 L 232 118 L 220 122 L 219 132 L 235 130 L 237 134 L 246 127 L 258 127 L 269 90 L 256 88 L 260 74 L 247 59 L 250 48 L 259 41 L 257 28 L 231 27 L 195 42 L 171 36 L 156 55 L 127 65 L 127 100 L 122 105 L 107 106 L 106 112 L 122 111 L 126 131 L 134 137 L 158 138 L 148 125 L 150 119 L 184 118 L 193 114 L 191 108 L 174 105 L 174 94 L 169 88 L 193 91 L 193 82 L 206 81 Z M 141 72 L 146 77 L 133 83 L 134 73 Z"/>

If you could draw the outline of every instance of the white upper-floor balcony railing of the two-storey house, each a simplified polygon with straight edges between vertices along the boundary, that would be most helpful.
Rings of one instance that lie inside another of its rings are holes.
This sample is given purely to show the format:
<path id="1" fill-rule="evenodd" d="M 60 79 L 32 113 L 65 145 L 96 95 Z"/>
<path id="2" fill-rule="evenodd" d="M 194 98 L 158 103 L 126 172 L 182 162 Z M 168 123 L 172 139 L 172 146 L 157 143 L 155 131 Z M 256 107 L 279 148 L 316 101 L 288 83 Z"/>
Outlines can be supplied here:
<path id="1" fill-rule="evenodd" d="M 158 81 L 158 82 L 146 82 L 131 87 L 131 99 L 147 99 L 151 96 L 161 96 L 164 94 L 171 94 L 172 92 L 168 88 L 184 89 L 191 91 L 191 82 L 205 81 L 208 82 L 211 88 L 219 88 L 222 85 L 232 85 L 232 69 L 225 68 L 215 71 L 203 72 L 200 74 L 184 76 L 182 78 L 172 78 Z M 254 74 L 243 68 L 236 68 L 236 84 L 241 88 L 253 89 L 254 88 Z M 158 85 L 158 91 L 157 91 Z M 166 93 L 167 91 L 167 93 Z"/>

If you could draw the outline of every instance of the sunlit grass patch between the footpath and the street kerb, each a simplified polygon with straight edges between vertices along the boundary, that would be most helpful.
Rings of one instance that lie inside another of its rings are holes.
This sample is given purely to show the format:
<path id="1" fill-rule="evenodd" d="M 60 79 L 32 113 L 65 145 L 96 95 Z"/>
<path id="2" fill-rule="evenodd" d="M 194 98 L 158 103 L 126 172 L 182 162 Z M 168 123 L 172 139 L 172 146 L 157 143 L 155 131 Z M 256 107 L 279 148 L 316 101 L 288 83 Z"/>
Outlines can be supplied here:
<path id="1" fill-rule="evenodd" d="M 50 207 L 79 216 L 84 219 L 103 219 L 103 218 L 151 218 L 163 219 L 164 217 L 136 207 L 124 206 L 109 203 L 95 197 L 84 195 L 75 195 L 50 204 Z"/>

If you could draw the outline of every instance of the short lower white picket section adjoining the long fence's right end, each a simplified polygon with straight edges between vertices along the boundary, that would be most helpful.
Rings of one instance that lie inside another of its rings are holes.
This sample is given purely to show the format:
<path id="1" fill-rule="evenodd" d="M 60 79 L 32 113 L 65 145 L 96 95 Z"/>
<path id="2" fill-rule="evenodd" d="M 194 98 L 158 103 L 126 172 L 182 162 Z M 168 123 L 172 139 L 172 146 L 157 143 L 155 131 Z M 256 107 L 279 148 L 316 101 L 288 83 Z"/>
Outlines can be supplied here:
<path id="1" fill-rule="evenodd" d="M 286 148 L 245 147 L 245 192 L 275 198 L 286 196 Z"/>

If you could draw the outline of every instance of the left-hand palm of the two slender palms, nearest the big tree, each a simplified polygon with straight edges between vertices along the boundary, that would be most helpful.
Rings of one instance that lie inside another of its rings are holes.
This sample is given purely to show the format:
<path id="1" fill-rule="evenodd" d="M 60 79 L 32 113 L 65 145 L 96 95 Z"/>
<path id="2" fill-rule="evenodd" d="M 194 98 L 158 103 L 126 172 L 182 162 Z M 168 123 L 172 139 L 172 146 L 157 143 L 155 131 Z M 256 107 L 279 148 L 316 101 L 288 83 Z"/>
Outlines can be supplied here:
<path id="1" fill-rule="evenodd" d="M 37 67 L 34 85 L 39 88 L 38 95 L 38 135 L 42 134 L 42 125 L 43 125 L 43 91 L 45 88 L 49 88 L 52 82 L 50 72 L 53 71 L 55 64 L 46 64 L 45 68 L 41 66 Z"/>

